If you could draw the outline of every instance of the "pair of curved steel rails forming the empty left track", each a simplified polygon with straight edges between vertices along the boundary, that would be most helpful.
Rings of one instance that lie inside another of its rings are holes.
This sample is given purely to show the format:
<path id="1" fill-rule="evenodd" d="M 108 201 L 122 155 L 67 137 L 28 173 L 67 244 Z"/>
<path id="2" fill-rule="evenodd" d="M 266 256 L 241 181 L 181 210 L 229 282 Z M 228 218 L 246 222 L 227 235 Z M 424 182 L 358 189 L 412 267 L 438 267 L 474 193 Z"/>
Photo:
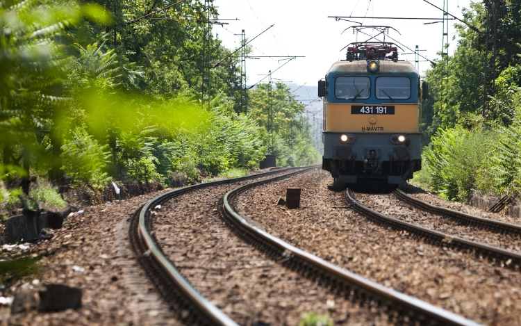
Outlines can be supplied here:
<path id="1" fill-rule="evenodd" d="M 233 200 L 246 190 L 286 178 L 288 178 L 288 174 L 269 180 L 245 184 L 226 193 L 220 214 L 235 234 L 238 234 L 238 236 L 262 252 L 265 252 L 276 264 L 286 266 L 286 268 L 290 268 L 300 275 L 319 282 L 326 288 L 333 288 L 337 295 L 350 298 L 354 302 L 367 304 L 369 307 L 378 307 L 378 309 L 387 311 L 389 316 L 394 316 L 395 322 L 399 324 L 478 325 L 454 313 L 371 282 L 332 263 L 328 263 L 313 254 L 299 250 L 297 247 L 293 247 L 279 238 L 267 234 L 258 227 L 254 227 L 233 209 Z M 219 184 L 230 182 L 233 181 L 224 181 Z M 197 187 L 191 189 L 190 187 L 183 188 L 152 200 L 140 211 L 139 218 L 138 215 L 135 215 L 130 231 L 131 238 L 134 239 L 132 241 L 133 246 L 140 257 L 142 266 L 144 266 L 149 275 L 153 275 L 152 278 L 155 279 L 154 283 L 160 293 L 163 294 L 163 297 L 168 302 L 172 302 L 172 309 L 187 324 L 237 325 L 222 311 L 216 309 L 214 304 L 202 297 L 198 291 L 195 291 L 195 288 L 186 282 L 181 272 L 163 254 L 163 250 L 158 247 L 159 241 L 156 238 L 158 230 L 150 231 L 154 228 L 152 225 L 152 220 L 154 219 L 150 218 L 150 215 L 157 214 L 154 208 L 158 204 L 164 204 L 168 200 L 190 193 L 190 191 L 196 189 L 216 185 L 206 184 L 206 186 L 197 185 Z M 139 236 L 135 231 L 132 231 L 137 228 L 139 228 Z M 191 268 L 203 268 L 203 266 L 191 266 Z M 222 270 L 223 268 L 221 268 L 221 272 Z"/>

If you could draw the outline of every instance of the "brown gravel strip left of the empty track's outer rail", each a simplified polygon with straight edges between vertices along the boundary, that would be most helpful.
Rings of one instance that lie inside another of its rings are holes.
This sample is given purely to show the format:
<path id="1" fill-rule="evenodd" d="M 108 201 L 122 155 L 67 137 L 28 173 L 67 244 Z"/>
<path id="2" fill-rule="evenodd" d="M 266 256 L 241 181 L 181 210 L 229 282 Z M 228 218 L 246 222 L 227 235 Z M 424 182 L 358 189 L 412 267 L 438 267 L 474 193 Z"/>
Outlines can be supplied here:
<path id="1" fill-rule="evenodd" d="M 19 313 L 8 325 L 181 325 L 163 304 L 129 249 L 129 218 L 151 193 L 124 202 L 85 207 L 65 220 L 53 238 L 31 247 L 44 255 L 41 282 L 82 289 L 82 307 L 60 312 Z M 74 271 L 84 269 L 83 272 Z M 30 279 L 26 279 L 31 281 Z M 3 295 L 13 295 L 15 284 Z"/>

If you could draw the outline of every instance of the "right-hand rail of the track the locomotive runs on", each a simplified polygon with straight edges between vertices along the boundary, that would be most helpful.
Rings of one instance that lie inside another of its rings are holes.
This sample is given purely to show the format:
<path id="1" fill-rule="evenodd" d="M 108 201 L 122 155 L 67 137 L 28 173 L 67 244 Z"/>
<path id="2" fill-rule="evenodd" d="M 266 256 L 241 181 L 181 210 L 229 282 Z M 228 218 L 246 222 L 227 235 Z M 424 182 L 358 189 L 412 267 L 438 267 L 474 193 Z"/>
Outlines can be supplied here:
<path id="1" fill-rule="evenodd" d="M 408 195 L 400 189 L 395 190 L 393 194 L 398 199 L 401 199 L 404 202 L 407 202 L 408 204 L 417 207 L 418 209 L 429 211 L 430 213 L 443 215 L 447 218 L 457 220 L 458 222 L 463 222 L 463 224 L 477 225 L 479 227 L 486 227 L 488 229 L 499 230 L 511 234 L 521 234 L 521 225 L 508 222 L 501 222 L 498 220 L 492 220 L 490 218 L 481 218 L 476 215 L 470 215 L 468 213 L 455 211 L 454 209 L 447 209 L 445 207 L 429 204 L 428 202 L 424 202 L 421 199 L 417 199 L 411 195 Z"/>

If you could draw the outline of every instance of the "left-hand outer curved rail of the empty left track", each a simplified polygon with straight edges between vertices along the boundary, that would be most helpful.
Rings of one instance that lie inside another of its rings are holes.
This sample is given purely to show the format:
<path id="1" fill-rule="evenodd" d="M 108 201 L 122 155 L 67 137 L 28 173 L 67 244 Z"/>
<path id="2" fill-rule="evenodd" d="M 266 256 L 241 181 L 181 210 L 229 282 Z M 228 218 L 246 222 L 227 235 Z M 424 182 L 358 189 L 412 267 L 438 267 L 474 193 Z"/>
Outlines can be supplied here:
<path id="1" fill-rule="evenodd" d="M 290 168 L 286 169 L 288 170 L 297 170 L 297 169 L 303 169 L 303 168 Z M 196 184 L 194 186 L 188 186 L 185 188 L 180 188 L 176 190 L 169 191 L 168 193 L 164 193 L 163 195 L 159 195 L 158 197 L 155 197 L 154 199 L 151 199 L 147 204 L 145 204 L 140 213 L 139 213 L 139 220 L 138 220 L 138 231 L 140 234 L 140 237 L 142 238 L 142 241 L 144 242 L 144 245 L 146 245 L 148 252 L 150 253 L 151 257 L 154 258 L 154 261 L 158 263 L 160 268 L 165 272 L 169 279 L 174 282 L 177 288 L 185 295 L 192 304 L 199 309 L 201 313 L 204 313 L 206 318 L 212 323 L 213 325 L 222 325 L 222 326 L 238 326 L 235 321 L 233 321 L 229 316 L 227 316 L 225 313 L 220 311 L 217 307 L 215 307 L 214 304 L 209 302 L 206 298 L 204 298 L 201 293 L 199 293 L 193 286 L 188 282 L 183 275 L 181 275 L 181 272 L 175 268 L 175 266 L 170 262 L 163 252 L 160 250 L 158 245 L 156 245 L 156 241 L 154 237 L 150 234 L 150 232 L 147 229 L 147 222 L 149 222 L 149 215 L 150 211 L 154 209 L 154 207 L 157 204 L 163 203 L 172 197 L 177 197 L 179 195 L 183 195 L 185 193 L 189 193 L 190 191 L 206 188 L 210 186 L 217 186 L 221 184 L 231 184 L 233 182 L 238 181 L 245 181 L 248 179 L 257 179 L 259 177 L 265 177 L 270 174 L 276 174 L 283 172 L 285 170 L 276 170 L 271 172 L 265 172 L 261 174 L 253 174 L 246 177 L 239 177 L 234 179 L 224 179 L 220 181 L 213 181 L 208 182 L 204 184 Z M 293 172 L 295 173 L 295 172 Z"/>

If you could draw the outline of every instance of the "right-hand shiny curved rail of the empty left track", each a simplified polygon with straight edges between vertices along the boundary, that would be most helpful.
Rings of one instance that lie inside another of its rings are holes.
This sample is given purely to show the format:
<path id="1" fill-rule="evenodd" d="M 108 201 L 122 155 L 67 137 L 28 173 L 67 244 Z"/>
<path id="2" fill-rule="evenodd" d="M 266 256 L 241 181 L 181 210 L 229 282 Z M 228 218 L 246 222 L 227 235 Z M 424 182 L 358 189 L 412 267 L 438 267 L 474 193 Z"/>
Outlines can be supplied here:
<path id="1" fill-rule="evenodd" d="M 290 175 L 291 174 L 286 174 L 284 177 L 288 177 Z M 238 232 L 240 236 L 243 238 L 249 238 L 251 242 L 258 245 L 259 247 L 263 247 L 263 249 L 270 252 L 272 256 L 282 256 L 288 259 L 286 263 L 290 266 L 295 266 L 295 264 L 298 264 L 299 267 L 297 267 L 297 269 L 299 270 L 313 269 L 317 270 L 320 274 L 327 275 L 326 278 L 330 280 L 331 284 L 333 284 L 333 290 L 339 290 L 341 287 L 339 284 L 345 284 L 345 286 L 348 288 L 347 293 L 351 291 L 369 293 L 374 298 L 377 298 L 377 300 L 380 302 L 386 302 L 388 306 L 394 307 L 391 309 L 396 309 L 395 306 L 398 306 L 404 308 L 404 310 L 407 312 L 413 311 L 417 320 L 420 321 L 436 320 L 438 325 L 481 325 L 472 320 L 463 318 L 462 316 L 458 316 L 450 311 L 438 308 L 433 304 L 429 304 L 428 302 L 424 302 L 399 291 L 395 291 L 392 288 L 388 288 L 378 284 L 377 282 L 372 282 L 369 279 L 365 279 L 365 277 L 361 277 L 354 272 L 349 272 L 349 270 L 340 268 L 339 266 L 333 265 L 328 261 L 324 261 L 314 254 L 294 247 L 293 245 L 290 245 L 289 243 L 286 243 L 285 241 L 268 234 L 262 229 L 250 225 L 245 220 L 245 218 L 235 212 L 231 202 L 233 199 L 235 199 L 235 197 L 240 195 L 240 193 L 243 193 L 245 190 L 250 188 L 260 186 L 261 184 L 267 184 L 268 182 L 279 179 L 282 179 L 282 177 L 257 181 L 235 188 L 224 195 L 224 213 L 226 214 L 226 217 L 229 218 L 229 222 L 233 224 L 234 231 Z"/>

